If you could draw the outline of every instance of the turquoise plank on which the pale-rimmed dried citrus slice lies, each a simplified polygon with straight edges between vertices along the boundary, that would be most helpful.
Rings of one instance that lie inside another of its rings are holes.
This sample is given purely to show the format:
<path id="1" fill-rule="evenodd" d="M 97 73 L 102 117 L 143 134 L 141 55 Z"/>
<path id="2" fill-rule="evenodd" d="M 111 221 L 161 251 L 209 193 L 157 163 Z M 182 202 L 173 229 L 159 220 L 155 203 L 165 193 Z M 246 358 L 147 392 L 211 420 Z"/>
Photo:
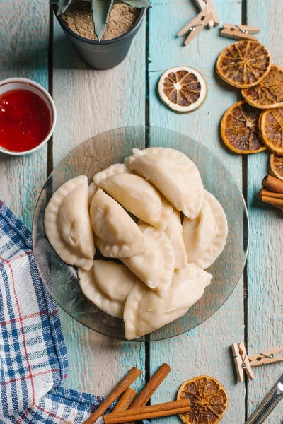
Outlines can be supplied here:
<path id="1" fill-rule="evenodd" d="M 241 22 L 241 1 L 214 0 L 213 4 L 222 22 Z M 221 116 L 239 98 L 239 93 L 219 81 L 214 71 L 216 57 L 230 41 L 219 37 L 218 28 L 202 30 L 187 47 L 183 47 L 183 40 L 175 37 L 196 13 L 194 2 L 187 0 L 153 1 L 149 18 L 150 124 L 175 129 L 202 142 L 224 161 L 241 186 L 241 158 L 228 153 L 219 140 Z M 192 114 L 185 115 L 167 110 L 156 95 L 161 73 L 171 66 L 182 64 L 199 70 L 206 78 L 209 90 L 204 105 Z M 241 279 L 226 304 L 207 322 L 178 338 L 151 344 L 151 374 L 163 362 L 173 368 L 171 375 L 154 394 L 152 402 L 173 399 L 176 390 L 186 379 L 197 375 L 212 375 L 224 384 L 229 394 L 229 408 L 221 423 L 243 423 L 245 385 L 236 384 L 229 349 L 231 343 L 244 339 L 243 324 Z M 178 423 L 178 418 L 168 418 L 166 422 Z"/>

